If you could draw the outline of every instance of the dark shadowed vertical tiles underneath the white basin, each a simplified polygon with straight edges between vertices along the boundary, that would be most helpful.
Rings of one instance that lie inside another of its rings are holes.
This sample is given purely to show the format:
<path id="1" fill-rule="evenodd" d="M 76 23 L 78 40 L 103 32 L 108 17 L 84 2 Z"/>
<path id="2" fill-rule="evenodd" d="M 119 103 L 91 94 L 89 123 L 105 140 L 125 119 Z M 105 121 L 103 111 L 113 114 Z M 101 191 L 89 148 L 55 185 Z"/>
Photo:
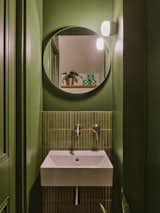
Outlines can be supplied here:
<path id="1" fill-rule="evenodd" d="M 107 197 L 107 200 L 106 200 Z M 45 213 L 101 213 L 102 203 L 110 213 L 111 189 L 101 187 L 80 187 L 79 205 L 74 205 L 75 188 L 43 188 L 43 212 Z"/>

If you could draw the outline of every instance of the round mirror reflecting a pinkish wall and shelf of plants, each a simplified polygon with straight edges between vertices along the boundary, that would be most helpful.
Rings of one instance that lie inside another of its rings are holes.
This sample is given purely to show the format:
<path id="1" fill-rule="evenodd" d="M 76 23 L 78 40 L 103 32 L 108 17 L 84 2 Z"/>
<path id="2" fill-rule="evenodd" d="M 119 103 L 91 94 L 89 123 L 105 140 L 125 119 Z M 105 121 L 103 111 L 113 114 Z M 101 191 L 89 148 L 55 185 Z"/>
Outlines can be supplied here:
<path id="1" fill-rule="evenodd" d="M 48 40 L 43 66 L 49 80 L 60 90 L 88 93 L 109 75 L 109 47 L 96 32 L 83 27 L 65 27 Z"/>

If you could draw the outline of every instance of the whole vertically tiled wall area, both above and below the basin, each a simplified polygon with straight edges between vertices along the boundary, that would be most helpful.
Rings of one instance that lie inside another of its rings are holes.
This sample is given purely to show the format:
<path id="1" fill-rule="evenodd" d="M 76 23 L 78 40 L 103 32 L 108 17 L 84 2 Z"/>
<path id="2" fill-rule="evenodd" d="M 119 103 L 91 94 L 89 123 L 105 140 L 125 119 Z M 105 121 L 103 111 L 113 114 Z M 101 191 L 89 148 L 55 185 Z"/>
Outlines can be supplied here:
<path id="1" fill-rule="evenodd" d="M 74 133 L 76 124 L 81 132 Z M 100 126 L 96 142 L 92 128 Z M 49 150 L 64 149 L 105 149 L 111 158 L 112 112 L 44 111 L 43 112 L 43 157 Z M 43 213 L 100 213 L 99 203 L 111 212 L 110 187 L 81 187 L 80 205 L 74 206 L 74 187 L 43 188 Z"/>

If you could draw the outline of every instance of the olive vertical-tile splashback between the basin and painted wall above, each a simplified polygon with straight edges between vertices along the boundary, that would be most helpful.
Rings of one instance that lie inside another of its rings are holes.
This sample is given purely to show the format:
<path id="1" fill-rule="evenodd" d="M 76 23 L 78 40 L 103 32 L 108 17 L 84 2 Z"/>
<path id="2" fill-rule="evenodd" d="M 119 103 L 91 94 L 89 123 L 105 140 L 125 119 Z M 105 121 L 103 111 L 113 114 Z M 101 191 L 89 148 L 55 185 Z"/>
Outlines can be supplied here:
<path id="1" fill-rule="evenodd" d="M 81 126 L 81 134 L 76 137 L 73 129 Z M 100 136 L 95 144 L 92 128 L 100 125 Z M 79 112 L 57 111 L 43 112 L 43 154 L 51 149 L 105 149 L 110 153 L 112 148 L 112 112 Z"/>

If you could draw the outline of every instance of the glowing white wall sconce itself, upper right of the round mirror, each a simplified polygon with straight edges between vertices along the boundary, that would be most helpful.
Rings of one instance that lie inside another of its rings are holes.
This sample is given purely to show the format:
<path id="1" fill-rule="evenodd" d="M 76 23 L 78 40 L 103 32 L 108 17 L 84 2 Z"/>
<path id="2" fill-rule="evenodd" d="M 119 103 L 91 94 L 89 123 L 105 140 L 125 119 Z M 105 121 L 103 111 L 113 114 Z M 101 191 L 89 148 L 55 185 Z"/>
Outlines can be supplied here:
<path id="1" fill-rule="evenodd" d="M 118 25 L 113 21 L 103 21 L 101 24 L 101 34 L 105 37 L 112 36 L 117 33 Z"/>

